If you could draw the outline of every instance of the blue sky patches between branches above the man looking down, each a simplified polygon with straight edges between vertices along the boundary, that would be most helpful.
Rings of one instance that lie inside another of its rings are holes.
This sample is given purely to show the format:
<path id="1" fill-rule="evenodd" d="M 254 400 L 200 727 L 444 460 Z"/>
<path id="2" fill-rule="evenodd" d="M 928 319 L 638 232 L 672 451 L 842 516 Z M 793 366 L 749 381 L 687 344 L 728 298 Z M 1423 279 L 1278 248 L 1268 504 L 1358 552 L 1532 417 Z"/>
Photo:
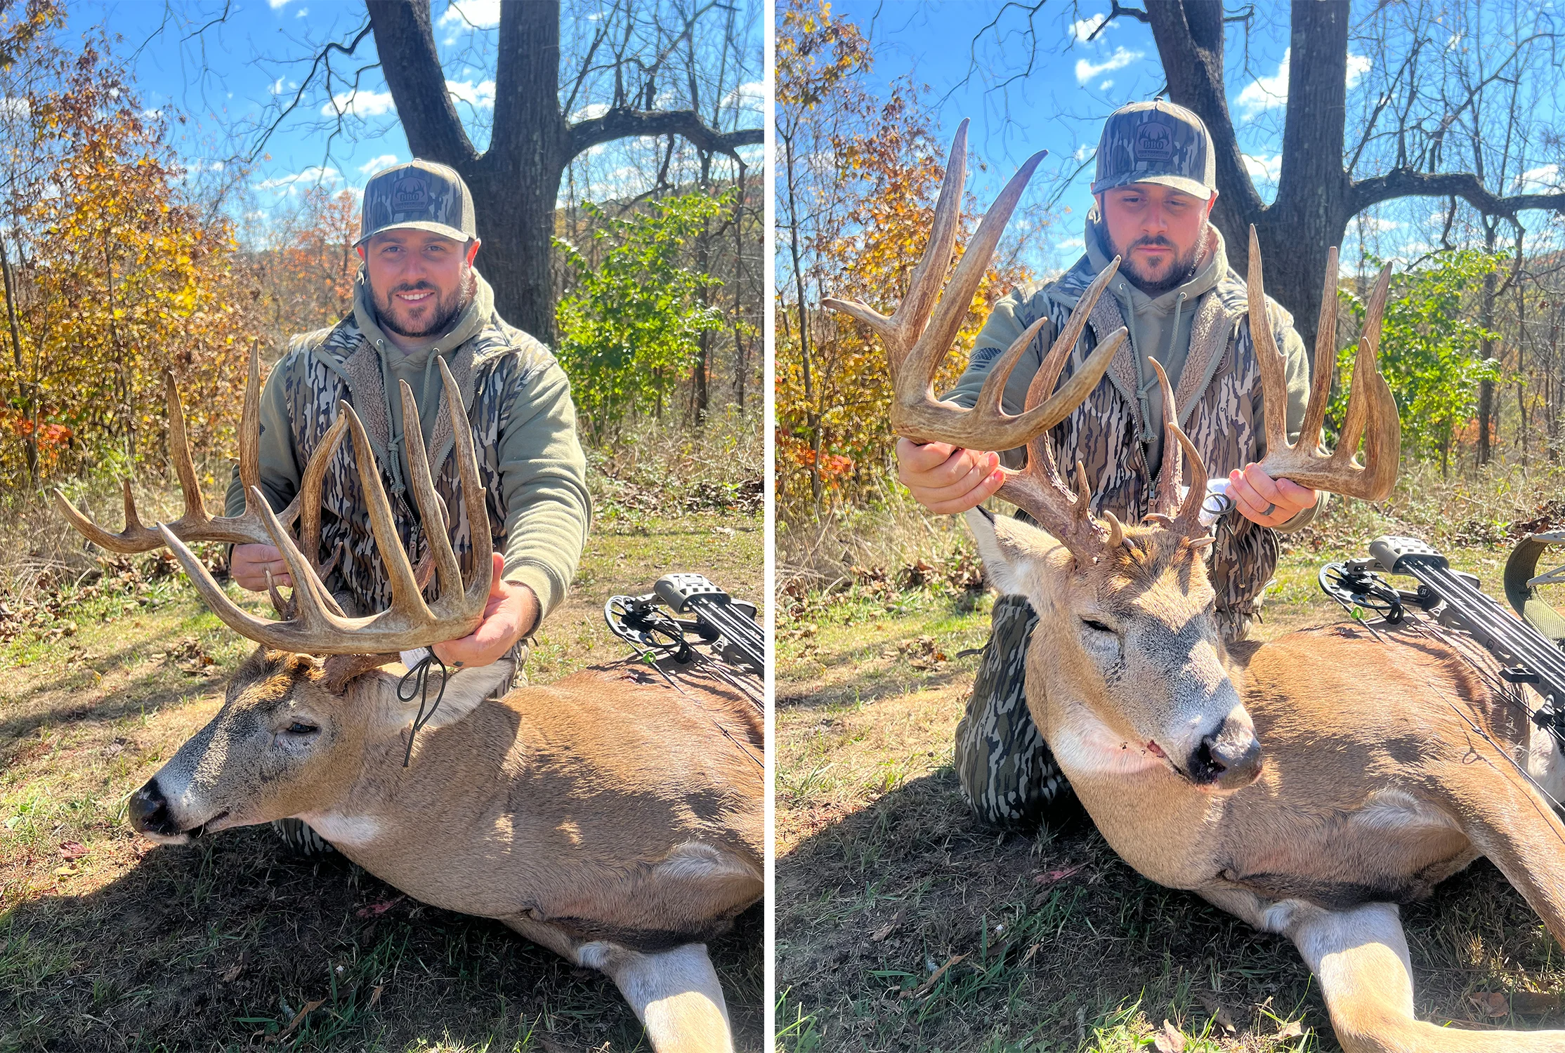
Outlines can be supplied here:
<path id="1" fill-rule="evenodd" d="M 1543 0 L 1543 8 L 1559 6 Z M 875 49 L 872 83 L 886 86 L 912 75 L 928 84 L 928 99 L 937 105 L 941 131 L 955 133 L 962 117 L 972 120 L 969 146 L 989 164 L 988 172 L 970 172 L 969 189 L 988 202 L 1016 167 L 1034 150 L 1047 149 L 1049 158 L 1033 178 L 1033 202 L 1056 197 L 1060 216 L 1044 244 L 1028 244 L 1027 260 L 1041 271 L 1067 266 L 1081 250 L 1081 222 L 1091 205 L 1092 150 L 1103 117 L 1125 102 L 1150 99 L 1163 89 L 1152 30 L 1133 19 L 1116 19 L 1097 39 L 1110 5 L 1106 0 L 1044 5 L 1031 23 L 1038 59 L 1020 74 L 1033 52 L 1028 23 L 1013 9 L 997 30 L 980 33 L 1000 3 L 908 3 L 895 0 L 839 0 L 833 11 L 850 17 L 870 34 Z M 1263 199 L 1275 194 L 1282 152 L 1282 116 L 1288 91 L 1288 9 L 1285 5 L 1255 5 L 1255 20 L 1247 53 L 1238 30 L 1227 42 L 1229 106 L 1239 136 L 1239 149 Z M 1355 5 L 1354 17 L 1360 17 Z M 978 42 L 975 44 L 975 38 Z M 1349 86 L 1355 86 L 1376 58 L 1349 47 Z M 1368 49 L 1365 49 L 1368 50 Z M 1352 114 L 1352 97 L 1349 102 Z M 1538 164 L 1529 189 L 1559 181 L 1559 166 Z M 1382 255 L 1416 255 L 1438 233 L 1430 217 L 1438 202 L 1404 202 L 1383 207 L 1351 224 L 1341 258 L 1358 258 L 1358 232 Z M 1524 213 L 1529 228 L 1545 225 L 1542 213 Z"/>

